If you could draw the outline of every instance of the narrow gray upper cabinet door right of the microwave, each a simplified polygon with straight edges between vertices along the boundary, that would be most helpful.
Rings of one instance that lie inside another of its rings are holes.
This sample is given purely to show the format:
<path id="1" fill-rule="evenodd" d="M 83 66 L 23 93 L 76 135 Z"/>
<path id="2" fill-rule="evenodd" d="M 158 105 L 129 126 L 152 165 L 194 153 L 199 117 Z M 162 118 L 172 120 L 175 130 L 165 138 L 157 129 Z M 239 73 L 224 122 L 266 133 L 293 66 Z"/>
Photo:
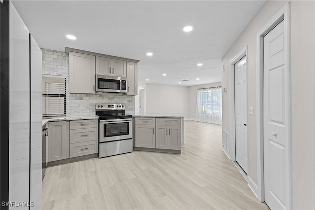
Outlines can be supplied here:
<path id="1" fill-rule="evenodd" d="M 138 64 L 127 61 L 127 95 L 138 95 Z"/>

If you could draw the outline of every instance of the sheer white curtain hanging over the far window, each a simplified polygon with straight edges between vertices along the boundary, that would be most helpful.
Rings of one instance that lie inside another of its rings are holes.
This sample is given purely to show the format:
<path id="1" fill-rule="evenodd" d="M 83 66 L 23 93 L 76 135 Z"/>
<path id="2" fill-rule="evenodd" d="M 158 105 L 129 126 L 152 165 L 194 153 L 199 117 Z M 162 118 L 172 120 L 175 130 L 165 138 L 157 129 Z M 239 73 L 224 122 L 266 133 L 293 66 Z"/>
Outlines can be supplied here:
<path id="1" fill-rule="evenodd" d="M 198 89 L 197 119 L 222 125 L 221 87 Z"/>

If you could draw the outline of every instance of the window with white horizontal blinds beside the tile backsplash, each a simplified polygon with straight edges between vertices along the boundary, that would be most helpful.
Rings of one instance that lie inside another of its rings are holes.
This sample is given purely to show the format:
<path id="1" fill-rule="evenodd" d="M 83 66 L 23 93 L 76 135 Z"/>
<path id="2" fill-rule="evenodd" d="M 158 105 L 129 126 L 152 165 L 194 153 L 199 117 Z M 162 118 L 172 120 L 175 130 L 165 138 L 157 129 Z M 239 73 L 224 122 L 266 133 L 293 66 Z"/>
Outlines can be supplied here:
<path id="1" fill-rule="evenodd" d="M 43 116 L 64 116 L 66 86 L 64 76 L 43 75 Z"/>

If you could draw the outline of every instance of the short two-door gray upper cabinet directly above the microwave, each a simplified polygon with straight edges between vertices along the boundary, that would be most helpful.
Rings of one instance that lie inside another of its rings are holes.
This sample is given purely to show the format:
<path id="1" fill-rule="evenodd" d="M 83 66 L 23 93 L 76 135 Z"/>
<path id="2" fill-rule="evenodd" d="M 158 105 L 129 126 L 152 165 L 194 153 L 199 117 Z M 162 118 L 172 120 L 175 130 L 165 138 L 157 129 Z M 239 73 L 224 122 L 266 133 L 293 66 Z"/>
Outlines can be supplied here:
<path id="1" fill-rule="evenodd" d="M 96 56 L 96 74 L 127 77 L 126 61 Z"/>

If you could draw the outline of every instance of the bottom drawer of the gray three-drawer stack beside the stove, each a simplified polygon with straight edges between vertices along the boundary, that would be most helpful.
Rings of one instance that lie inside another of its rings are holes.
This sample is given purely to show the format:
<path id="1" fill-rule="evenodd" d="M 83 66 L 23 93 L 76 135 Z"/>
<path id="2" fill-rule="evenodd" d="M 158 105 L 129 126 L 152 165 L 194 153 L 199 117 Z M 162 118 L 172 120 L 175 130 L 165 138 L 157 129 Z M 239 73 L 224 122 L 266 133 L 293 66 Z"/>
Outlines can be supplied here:
<path id="1" fill-rule="evenodd" d="M 80 143 L 70 143 L 70 158 L 94 154 L 97 152 L 98 152 L 97 140 Z"/>

